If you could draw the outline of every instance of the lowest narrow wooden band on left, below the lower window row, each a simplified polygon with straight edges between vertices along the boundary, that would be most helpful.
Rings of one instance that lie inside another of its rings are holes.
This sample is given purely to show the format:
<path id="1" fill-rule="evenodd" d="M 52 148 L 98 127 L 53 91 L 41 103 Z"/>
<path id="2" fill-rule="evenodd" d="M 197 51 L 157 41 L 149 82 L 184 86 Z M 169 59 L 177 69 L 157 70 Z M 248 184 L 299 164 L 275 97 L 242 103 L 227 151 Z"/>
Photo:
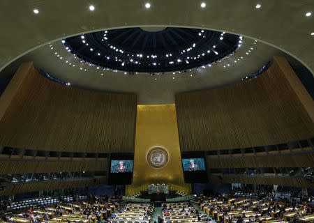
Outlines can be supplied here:
<path id="1" fill-rule="evenodd" d="M 71 188 L 71 187 L 87 187 L 92 185 L 105 185 L 107 178 L 99 177 L 95 179 L 81 179 L 81 180 L 49 180 L 43 182 L 31 182 L 31 183 L 11 183 L 4 190 L 0 191 L 1 195 L 21 194 L 26 192 L 33 192 L 39 190 L 54 190 L 59 188 Z"/>

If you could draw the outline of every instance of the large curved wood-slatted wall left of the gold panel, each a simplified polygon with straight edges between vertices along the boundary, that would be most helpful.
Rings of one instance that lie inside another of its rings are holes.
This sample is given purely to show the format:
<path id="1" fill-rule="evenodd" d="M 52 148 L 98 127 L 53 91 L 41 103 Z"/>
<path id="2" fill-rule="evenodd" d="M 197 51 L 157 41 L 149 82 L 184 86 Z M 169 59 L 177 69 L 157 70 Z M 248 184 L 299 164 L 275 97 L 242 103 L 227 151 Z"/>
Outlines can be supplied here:
<path id="1" fill-rule="evenodd" d="M 57 84 L 40 75 L 32 63 L 20 66 L 8 89 L 0 99 L 0 107 L 5 106 L 0 145 L 134 153 L 137 95 Z"/>

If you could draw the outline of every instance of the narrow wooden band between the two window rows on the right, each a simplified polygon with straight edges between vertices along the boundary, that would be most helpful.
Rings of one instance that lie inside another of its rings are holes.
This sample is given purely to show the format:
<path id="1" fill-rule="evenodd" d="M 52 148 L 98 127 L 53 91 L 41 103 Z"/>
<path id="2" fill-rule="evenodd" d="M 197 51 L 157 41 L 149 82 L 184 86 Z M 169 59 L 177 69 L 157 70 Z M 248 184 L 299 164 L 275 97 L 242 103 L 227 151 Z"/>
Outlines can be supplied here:
<path id="1" fill-rule="evenodd" d="M 314 167 L 314 153 L 255 157 L 210 157 L 208 168 Z"/>

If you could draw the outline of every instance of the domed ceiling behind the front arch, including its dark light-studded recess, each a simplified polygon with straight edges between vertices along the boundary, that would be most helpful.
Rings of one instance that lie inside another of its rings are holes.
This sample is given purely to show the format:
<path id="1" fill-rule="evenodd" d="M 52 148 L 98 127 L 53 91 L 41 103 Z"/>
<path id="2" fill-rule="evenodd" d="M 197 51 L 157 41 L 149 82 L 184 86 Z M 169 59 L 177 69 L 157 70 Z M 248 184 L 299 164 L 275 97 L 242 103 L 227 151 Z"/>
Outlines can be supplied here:
<path id="1" fill-rule="evenodd" d="M 258 40 L 229 33 L 157 28 L 107 29 L 63 38 L 17 59 L 0 76 L 12 76 L 20 63 L 33 61 L 46 77 L 69 87 L 137 93 L 141 105 L 169 104 L 175 93 L 246 81 L 272 56 L 287 56 Z"/>

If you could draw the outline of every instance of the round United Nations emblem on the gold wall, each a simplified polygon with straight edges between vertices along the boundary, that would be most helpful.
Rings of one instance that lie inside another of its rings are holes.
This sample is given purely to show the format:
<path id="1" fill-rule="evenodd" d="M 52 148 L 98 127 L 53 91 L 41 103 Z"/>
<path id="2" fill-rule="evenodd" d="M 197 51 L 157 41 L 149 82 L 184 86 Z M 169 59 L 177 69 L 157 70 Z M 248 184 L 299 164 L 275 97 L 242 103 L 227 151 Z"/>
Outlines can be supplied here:
<path id="1" fill-rule="evenodd" d="M 158 146 L 151 148 L 147 154 L 147 162 L 151 165 L 151 167 L 165 167 L 168 162 L 168 153 L 164 148 Z"/>

